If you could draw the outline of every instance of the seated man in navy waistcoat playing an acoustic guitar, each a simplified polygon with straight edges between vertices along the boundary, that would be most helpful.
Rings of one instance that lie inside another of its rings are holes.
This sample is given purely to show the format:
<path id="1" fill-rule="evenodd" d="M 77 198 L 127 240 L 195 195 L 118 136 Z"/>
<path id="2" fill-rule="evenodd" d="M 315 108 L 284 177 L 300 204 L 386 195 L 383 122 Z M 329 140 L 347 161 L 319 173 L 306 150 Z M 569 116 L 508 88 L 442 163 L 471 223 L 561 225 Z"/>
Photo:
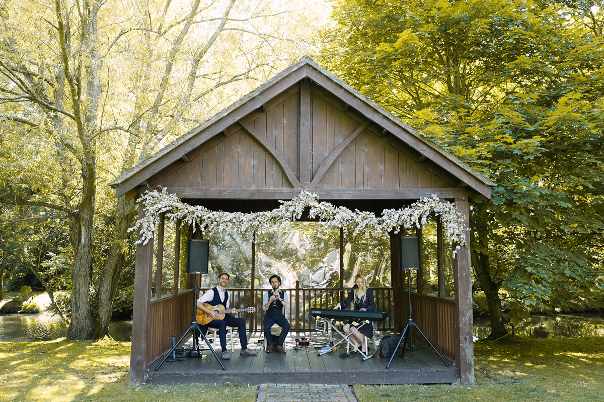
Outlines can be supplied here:
<path id="1" fill-rule="evenodd" d="M 217 306 L 218 304 L 222 304 L 222 306 L 225 306 L 225 310 L 228 310 L 228 307 L 230 305 L 229 294 L 225 287 L 228 283 L 229 278 L 230 275 L 226 272 L 220 274 L 220 276 L 218 277 L 217 286 L 205 292 L 197 300 L 197 308 L 204 311 L 205 313 L 210 315 L 211 318 L 213 318 L 213 320 L 208 322 L 208 324 L 201 325 L 201 330 L 204 332 L 205 335 L 208 331 L 208 327 L 218 328 L 218 336 L 220 337 L 220 347 L 222 348 L 222 359 L 224 360 L 231 359 L 231 357 L 228 355 L 228 352 L 226 351 L 227 325 L 231 328 L 237 328 L 237 331 L 239 331 L 239 343 L 241 344 L 241 351 L 239 352 L 239 354 L 243 356 L 254 356 L 255 354 L 258 354 L 258 352 L 249 350 L 248 348 L 248 336 L 245 332 L 245 319 L 236 318 L 231 316 L 230 314 L 225 315 L 224 319 L 216 319 L 216 312 L 207 309 L 204 306 L 204 303 L 208 303 L 210 304 L 210 306 Z M 231 312 L 235 313 L 236 309 L 231 310 Z"/>

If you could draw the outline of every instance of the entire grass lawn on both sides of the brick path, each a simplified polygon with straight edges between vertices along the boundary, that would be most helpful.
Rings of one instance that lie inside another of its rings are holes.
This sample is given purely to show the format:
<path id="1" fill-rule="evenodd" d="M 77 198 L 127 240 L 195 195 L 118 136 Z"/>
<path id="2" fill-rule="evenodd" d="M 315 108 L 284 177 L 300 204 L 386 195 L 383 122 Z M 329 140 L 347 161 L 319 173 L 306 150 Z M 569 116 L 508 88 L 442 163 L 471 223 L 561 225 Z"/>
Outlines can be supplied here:
<path id="1" fill-rule="evenodd" d="M 474 344 L 476 385 L 353 387 L 359 402 L 604 401 L 604 338 Z M 0 401 L 249 401 L 247 384 L 129 385 L 129 342 L 0 343 Z"/>

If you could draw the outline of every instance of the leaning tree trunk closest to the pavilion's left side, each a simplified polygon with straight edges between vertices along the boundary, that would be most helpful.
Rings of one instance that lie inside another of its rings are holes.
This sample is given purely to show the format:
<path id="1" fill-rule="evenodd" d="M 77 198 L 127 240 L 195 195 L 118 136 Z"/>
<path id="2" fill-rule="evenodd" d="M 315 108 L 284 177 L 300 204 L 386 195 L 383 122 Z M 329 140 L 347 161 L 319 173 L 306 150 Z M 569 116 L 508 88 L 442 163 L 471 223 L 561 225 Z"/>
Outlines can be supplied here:
<path id="1" fill-rule="evenodd" d="M 126 201 L 125 196 L 118 198 L 115 209 L 114 241 L 109 247 L 109 255 L 104 263 L 98 283 L 98 317 L 93 338 L 103 338 L 103 336 L 109 335 L 113 301 L 120 283 L 126 239 L 129 236 L 128 228 L 132 226 L 132 220 L 136 212 L 134 199 Z"/>

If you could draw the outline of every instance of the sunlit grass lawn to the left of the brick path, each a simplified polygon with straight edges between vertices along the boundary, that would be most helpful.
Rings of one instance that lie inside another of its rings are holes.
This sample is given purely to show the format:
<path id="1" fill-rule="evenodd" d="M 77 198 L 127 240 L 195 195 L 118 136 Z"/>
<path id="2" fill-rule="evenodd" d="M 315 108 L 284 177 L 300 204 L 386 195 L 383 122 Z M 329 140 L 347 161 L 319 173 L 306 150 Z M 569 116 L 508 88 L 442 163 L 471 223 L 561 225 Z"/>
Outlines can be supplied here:
<path id="1" fill-rule="evenodd" d="M 130 342 L 3 342 L 0 401 L 254 401 L 247 384 L 146 385 L 129 383 Z"/>

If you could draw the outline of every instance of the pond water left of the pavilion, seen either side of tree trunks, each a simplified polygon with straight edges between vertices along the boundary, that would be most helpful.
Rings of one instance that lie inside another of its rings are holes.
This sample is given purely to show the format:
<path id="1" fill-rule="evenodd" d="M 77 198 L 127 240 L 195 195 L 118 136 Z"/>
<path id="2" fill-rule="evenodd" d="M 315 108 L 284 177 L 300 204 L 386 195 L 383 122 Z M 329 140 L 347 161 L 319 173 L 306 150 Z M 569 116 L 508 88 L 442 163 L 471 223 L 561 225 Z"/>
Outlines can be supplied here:
<path id="1" fill-rule="evenodd" d="M 120 342 L 132 339 L 132 321 L 112 321 L 109 334 Z M 0 316 L 0 342 L 51 341 L 67 335 L 65 323 L 50 313 Z"/>

